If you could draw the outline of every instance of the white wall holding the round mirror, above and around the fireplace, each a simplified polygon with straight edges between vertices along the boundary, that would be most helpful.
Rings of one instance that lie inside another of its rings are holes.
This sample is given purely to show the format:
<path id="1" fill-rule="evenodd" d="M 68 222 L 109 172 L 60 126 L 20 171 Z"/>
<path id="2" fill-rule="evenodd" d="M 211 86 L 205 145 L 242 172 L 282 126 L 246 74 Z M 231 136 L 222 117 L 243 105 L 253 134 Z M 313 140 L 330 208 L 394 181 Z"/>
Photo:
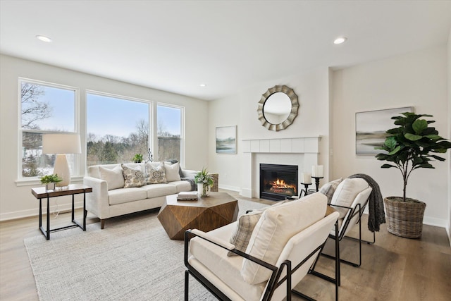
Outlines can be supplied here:
<path id="1" fill-rule="evenodd" d="M 274 85 L 287 85 L 297 94 L 299 111 L 295 121 L 278 132 L 264 128 L 257 115 L 261 95 Z M 242 181 L 242 140 L 321 136 L 319 164 L 328 179 L 329 141 L 329 71 L 327 68 L 287 78 L 261 82 L 236 91 L 229 97 L 209 103 L 209 171 L 219 173 L 219 186 L 240 191 Z M 233 87 L 231 87 L 232 89 Z M 216 154 L 215 131 L 218 126 L 237 125 L 237 154 Z M 306 171 L 310 166 L 307 166 Z M 299 171 L 301 173 L 302 171 Z"/>

